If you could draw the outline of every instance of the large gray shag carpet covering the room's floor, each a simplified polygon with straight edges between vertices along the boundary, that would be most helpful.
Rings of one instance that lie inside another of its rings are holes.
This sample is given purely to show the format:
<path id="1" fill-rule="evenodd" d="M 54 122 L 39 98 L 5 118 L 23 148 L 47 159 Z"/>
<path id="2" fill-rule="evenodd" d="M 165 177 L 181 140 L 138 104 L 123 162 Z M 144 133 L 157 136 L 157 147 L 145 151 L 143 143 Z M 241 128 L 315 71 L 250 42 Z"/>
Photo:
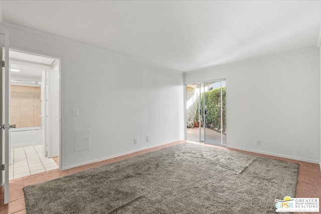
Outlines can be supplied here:
<path id="1" fill-rule="evenodd" d="M 298 164 L 193 143 L 24 187 L 27 213 L 276 213 Z"/>

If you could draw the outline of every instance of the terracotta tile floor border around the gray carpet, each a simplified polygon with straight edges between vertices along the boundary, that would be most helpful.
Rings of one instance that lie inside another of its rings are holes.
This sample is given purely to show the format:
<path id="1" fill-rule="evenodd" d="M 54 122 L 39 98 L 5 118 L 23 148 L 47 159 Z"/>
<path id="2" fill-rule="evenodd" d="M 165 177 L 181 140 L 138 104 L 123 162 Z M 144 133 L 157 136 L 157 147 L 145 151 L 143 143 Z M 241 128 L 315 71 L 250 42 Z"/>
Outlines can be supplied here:
<path id="1" fill-rule="evenodd" d="M 47 180 L 52 180 L 52 179 L 55 179 L 58 177 L 68 175 L 68 174 L 83 171 L 83 170 L 86 170 L 89 168 L 94 168 L 94 167 L 108 164 L 111 162 L 127 159 L 130 157 L 134 157 L 137 155 L 141 155 L 144 153 L 148 153 L 151 151 L 155 151 L 155 150 L 162 149 L 162 148 L 169 147 L 169 146 L 174 146 L 174 145 L 185 143 L 185 142 L 193 142 L 193 141 L 186 141 L 186 140 L 177 141 L 177 142 L 169 143 L 169 144 L 166 144 L 163 146 L 157 146 L 154 148 L 145 149 L 145 150 L 134 152 L 131 154 L 122 155 L 119 157 L 111 158 L 108 160 L 103 160 L 103 161 L 96 162 L 96 163 L 90 163 L 90 164 L 83 165 L 83 166 L 78 166 L 78 167 L 75 167 L 72 169 L 67 169 L 64 171 L 59 171 L 58 169 L 55 169 L 55 170 L 51 170 L 51 171 L 42 172 L 40 174 L 35 174 L 35 175 L 30 175 L 30 176 L 10 180 L 9 181 L 9 183 L 10 183 L 9 184 L 9 192 L 10 192 L 9 193 L 9 201 L 10 201 L 9 204 L 6 204 L 6 205 L 3 204 L 4 187 L 0 186 L 0 214 L 11 214 L 11 213 L 23 214 L 23 213 L 26 213 L 24 191 L 22 189 L 24 186 L 33 185 L 33 184 L 44 182 Z M 226 148 L 226 147 L 215 146 L 215 145 L 204 144 L 204 143 L 197 143 L 197 144 L 202 144 L 205 146 L 213 146 L 213 147 L 217 147 L 217 148 L 221 148 L 221 149 L 239 151 L 239 152 L 244 152 L 244 153 L 248 153 L 248 154 L 252 154 L 252 155 L 264 156 L 264 157 L 268 157 L 268 158 L 298 163 L 299 164 L 299 174 L 298 174 L 298 180 L 297 180 L 297 185 L 296 185 L 295 197 L 318 197 L 321 199 L 321 173 L 320 173 L 320 168 L 319 168 L 318 164 L 307 163 L 307 162 L 303 162 L 303 161 L 297 161 L 297 160 L 275 157 L 275 156 L 270 156 L 270 155 L 258 154 L 258 153 L 253 153 L 253 152 L 241 151 L 241 150 L 236 150 L 236 149 L 230 149 L 230 148 Z M 294 213 L 308 213 L 308 212 L 294 212 Z M 312 213 L 317 213 L 317 212 L 311 212 L 311 214 Z M 321 213 L 321 212 L 319 212 L 319 213 Z"/>

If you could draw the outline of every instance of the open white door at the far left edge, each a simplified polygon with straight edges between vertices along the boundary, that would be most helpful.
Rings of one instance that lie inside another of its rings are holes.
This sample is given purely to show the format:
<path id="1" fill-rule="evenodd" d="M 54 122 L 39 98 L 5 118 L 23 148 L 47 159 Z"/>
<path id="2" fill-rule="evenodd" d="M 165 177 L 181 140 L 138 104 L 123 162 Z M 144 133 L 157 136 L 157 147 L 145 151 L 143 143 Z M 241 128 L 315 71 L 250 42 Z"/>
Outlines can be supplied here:
<path id="1" fill-rule="evenodd" d="M 1 52 L 1 59 L 5 62 L 5 67 L 2 64 L 2 75 L 1 76 L 1 99 L 0 99 L 0 110 L 1 110 L 1 135 L 0 135 L 0 151 L 1 151 L 1 185 L 5 185 L 4 203 L 9 202 L 9 129 L 10 125 L 10 105 L 9 105 L 9 90 L 10 90 L 10 73 L 9 73 L 9 32 L 5 32 L 5 35 L 1 35 L 1 41 L 4 41 L 4 49 Z M 3 44 L 1 44 L 3 47 Z M 4 157 L 3 157 L 4 156 Z"/>

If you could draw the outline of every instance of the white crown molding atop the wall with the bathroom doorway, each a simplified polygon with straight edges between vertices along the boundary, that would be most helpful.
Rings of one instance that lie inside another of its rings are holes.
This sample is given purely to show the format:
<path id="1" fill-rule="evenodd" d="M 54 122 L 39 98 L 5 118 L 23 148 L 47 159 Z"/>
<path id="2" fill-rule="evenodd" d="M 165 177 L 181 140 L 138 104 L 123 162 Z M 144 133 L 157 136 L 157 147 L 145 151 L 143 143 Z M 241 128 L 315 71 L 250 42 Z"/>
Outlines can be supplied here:
<path id="1" fill-rule="evenodd" d="M 146 64 L 146 65 L 151 65 L 151 66 L 156 66 L 158 68 L 166 69 L 166 70 L 173 71 L 173 72 L 176 72 L 176 73 L 179 73 L 179 74 L 183 74 L 184 73 L 182 71 L 178 71 L 178 70 L 175 70 L 175 69 L 172 69 L 172 68 L 168 68 L 166 66 L 150 63 L 150 62 L 147 62 L 147 61 L 144 61 L 144 60 L 140 60 L 140 59 L 136 59 L 136 58 L 133 58 L 133 57 L 129 57 L 129 56 L 126 56 L 126 55 L 123 55 L 123 54 L 120 54 L 120 53 L 117 53 L 117 52 L 113 52 L 113 51 L 110 51 L 110 50 L 107 50 L 107 49 L 102 49 L 102 48 L 95 47 L 95 46 L 92 46 L 92 45 L 87 45 L 87 44 L 84 44 L 84 43 L 76 42 L 74 40 L 70 40 L 70 39 L 67 39 L 67 38 L 64 38 L 64 37 L 54 36 L 52 34 L 48 34 L 48 33 L 41 32 L 41 31 L 37 31 L 37 30 L 30 29 L 30 28 L 27 28 L 27 27 L 23 27 L 23 26 L 20 26 L 20 25 L 14 24 L 14 23 L 10 23 L 10 22 L 7 22 L 7 21 L 2 22 L 1 25 L 6 26 L 8 28 L 13 28 L 13 29 L 16 29 L 16 30 L 24 31 L 26 33 L 34 34 L 34 35 L 37 35 L 37 36 L 41 36 L 41 37 L 45 37 L 45 38 L 48 38 L 48 39 L 56 40 L 56 41 L 59 41 L 59 42 L 70 43 L 70 44 L 81 46 L 81 47 L 84 47 L 84 48 L 89 48 L 89 49 L 95 49 L 95 50 L 99 50 L 99 51 L 108 52 L 110 54 L 113 54 L 113 55 L 116 55 L 116 56 L 120 56 L 120 57 L 124 57 L 124 58 L 127 58 L 127 59 L 135 61 L 135 62 L 139 62 L 139 63 L 143 63 L 143 64 Z"/>

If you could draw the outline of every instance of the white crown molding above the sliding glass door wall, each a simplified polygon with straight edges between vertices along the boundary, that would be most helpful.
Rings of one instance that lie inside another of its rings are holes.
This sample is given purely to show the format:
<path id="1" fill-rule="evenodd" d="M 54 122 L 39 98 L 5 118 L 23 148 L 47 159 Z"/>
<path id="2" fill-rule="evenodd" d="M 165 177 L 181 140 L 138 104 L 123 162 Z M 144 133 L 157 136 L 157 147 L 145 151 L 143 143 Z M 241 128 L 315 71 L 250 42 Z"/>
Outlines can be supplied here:
<path id="1" fill-rule="evenodd" d="M 313 50 L 313 49 L 316 49 L 316 48 L 317 48 L 316 46 L 311 46 L 311 47 L 307 47 L 307 48 L 297 49 L 297 50 L 293 50 L 293 51 L 286 51 L 286 52 L 282 52 L 282 53 L 278 53 L 278 54 L 271 54 L 271 55 L 264 56 L 264 57 L 257 57 L 257 58 L 252 58 L 252 59 L 248 59 L 248 60 L 242 60 L 242 61 L 238 61 L 238 62 L 227 63 L 227 64 L 223 64 L 223 65 L 208 66 L 208 67 L 205 67 L 205 68 L 184 72 L 184 75 L 185 74 L 197 73 L 197 72 L 201 72 L 201 71 L 207 71 L 207 70 L 210 70 L 210 69 L 219 69 L 219 68 L 225 68 L 225 67 L 230 67 L 230 66 L 235 66 L 235 65 L 241 65 L 241 64 L 260 61 L 260 60 L 263 60 L 263 59 L 269 59 L 269 58 L 277 57 L 277 56 L 295 54 L 295 53 L 299 53 L 299 52 L 303 52 L 303 51 Z"/>

